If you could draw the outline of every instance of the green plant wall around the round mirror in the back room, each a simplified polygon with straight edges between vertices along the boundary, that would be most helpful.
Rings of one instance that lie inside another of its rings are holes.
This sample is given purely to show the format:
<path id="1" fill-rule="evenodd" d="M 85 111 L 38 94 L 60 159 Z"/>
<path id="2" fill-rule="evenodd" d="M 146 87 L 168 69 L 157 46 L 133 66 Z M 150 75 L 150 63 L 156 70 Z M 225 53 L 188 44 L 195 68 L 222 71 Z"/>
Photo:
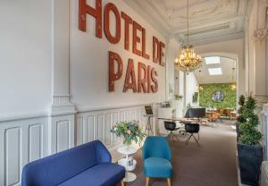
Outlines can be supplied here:
<path id="1" fill-rule="evenodd" d="M 214 106 L 216 108 L 235 108 L 237 97 L 236 89 L 230 89 L 230 83 L 202 84 L 203 89 L 199 90 L 199 105 L 203 107 Z M 224 98 L 221 103 L 212 100 L 215 91 L 222 91 Z"/>

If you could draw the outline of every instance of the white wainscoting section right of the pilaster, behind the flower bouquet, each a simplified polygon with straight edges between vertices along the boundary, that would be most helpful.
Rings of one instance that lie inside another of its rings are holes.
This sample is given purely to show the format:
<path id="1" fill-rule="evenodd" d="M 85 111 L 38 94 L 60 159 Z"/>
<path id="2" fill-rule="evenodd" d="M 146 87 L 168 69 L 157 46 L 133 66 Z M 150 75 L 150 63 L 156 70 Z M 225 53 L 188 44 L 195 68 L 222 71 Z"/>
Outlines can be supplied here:
<path id="1" fill-rule="evenodd" d="M 91 140 L 99 139 L 110 151 L 113 151 L 113 148 L 121 145 L 121 140 L 111 133 L 113 125 L 121 121 L 136 120 L 142 128 L 145 128 L 146 118 L 143 116 L 144 114 L 144 106 L 80 112 L 76 115 L 76 144 L 80 145 Z"/>

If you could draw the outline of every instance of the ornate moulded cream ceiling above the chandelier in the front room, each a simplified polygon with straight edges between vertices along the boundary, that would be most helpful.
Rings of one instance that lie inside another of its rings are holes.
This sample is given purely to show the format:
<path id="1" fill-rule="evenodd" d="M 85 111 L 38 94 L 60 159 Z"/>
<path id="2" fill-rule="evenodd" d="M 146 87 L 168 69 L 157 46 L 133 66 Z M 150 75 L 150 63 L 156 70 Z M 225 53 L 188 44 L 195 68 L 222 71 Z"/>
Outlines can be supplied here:
<path id="1" fill-rule="evenodd" d="M 187 36 L 187 0 L 124 0 L 157 30 L 183 44 Z M 192 44 L 243 37 L 252 0 L 189 0 L 189 40 Z"/>

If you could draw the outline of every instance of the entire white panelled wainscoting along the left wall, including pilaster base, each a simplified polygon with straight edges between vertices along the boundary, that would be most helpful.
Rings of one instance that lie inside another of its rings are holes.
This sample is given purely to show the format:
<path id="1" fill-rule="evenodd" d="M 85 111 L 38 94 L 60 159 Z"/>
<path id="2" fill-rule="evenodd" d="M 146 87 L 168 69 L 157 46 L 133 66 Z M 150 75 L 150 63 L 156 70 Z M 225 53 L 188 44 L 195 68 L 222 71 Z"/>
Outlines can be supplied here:
<path id="1" fill-rule="evenodd" d="M 20 186 L 22 168 L 30 161 L 94 139 L 100 139 L 117 159 L 121 139 L 110 130 L 117 122 L 131 120 L 145 129 L 144 114 L 144 106 L 125 106 L 0 119 L 0 186 Z"/>

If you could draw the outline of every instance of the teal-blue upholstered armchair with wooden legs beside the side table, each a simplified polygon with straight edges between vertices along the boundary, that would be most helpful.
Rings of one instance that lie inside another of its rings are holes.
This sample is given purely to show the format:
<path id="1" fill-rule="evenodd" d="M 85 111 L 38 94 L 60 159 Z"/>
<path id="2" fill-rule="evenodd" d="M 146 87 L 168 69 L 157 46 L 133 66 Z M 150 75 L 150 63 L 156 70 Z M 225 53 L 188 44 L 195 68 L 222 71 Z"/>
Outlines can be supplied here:
<path id="1" fill-rule="evenodd" d="M 166 178 L 168 185 L 171 186 L 172 151 L 167 139 L 160 136 L 147 137 L 142 156 L 147 186 L 150 178 Z"/>

